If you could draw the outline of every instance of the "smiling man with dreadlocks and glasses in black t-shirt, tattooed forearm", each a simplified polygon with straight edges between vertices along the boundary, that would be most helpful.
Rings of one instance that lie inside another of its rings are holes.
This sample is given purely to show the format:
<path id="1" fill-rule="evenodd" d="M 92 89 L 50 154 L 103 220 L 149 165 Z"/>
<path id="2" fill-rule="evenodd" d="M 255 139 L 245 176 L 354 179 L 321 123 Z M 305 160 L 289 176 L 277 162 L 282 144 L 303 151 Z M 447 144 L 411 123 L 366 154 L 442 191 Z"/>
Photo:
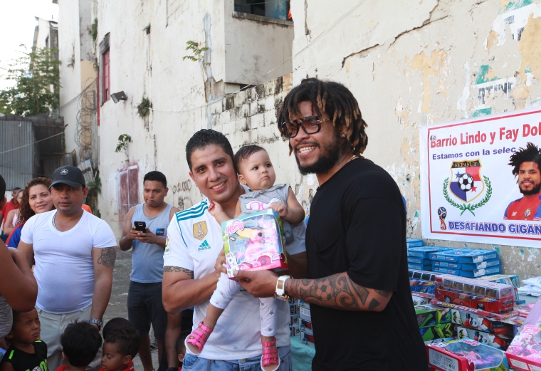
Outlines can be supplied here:
<path id="1" fill-rule="evenodd" d="M 409 288 L 406 211 L 392 177 L 362 157 L 366 127 L 344 85 L 310 78 L 291 90 L 278 129 L 300 173 L 315 173 L 319 182 L 306 232 L 308 279 L 270 271 L 237 276 L 254 296 L 310 303 L 312 370 L 425 371 Z"/>

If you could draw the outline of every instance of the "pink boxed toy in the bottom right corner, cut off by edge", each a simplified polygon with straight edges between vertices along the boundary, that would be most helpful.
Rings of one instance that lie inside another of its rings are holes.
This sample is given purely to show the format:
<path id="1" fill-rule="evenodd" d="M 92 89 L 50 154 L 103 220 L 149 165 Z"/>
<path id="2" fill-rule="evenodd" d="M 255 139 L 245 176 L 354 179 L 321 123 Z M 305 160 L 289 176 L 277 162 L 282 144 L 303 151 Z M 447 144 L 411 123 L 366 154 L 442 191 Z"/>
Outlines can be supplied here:
<path id="1" fill-rule="evenodd" d="M 524 321 L 524 327 L 513 338 L 507 355 L 516 370 L 541 370 L 541 301 L 537 301 Z"/>

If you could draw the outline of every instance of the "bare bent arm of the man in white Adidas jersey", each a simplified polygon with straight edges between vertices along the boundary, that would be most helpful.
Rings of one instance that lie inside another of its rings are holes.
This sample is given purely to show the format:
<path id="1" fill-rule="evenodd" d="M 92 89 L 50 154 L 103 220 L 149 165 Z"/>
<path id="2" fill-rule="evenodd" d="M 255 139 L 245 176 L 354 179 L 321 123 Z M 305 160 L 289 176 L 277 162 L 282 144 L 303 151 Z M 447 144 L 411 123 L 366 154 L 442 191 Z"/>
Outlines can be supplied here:
<path id="1" fill-rule="evenodd" d="M 194 272 L 178 266 L 164 266 L 162 299 L 167 313 L 175 315 L 181 310 L 209 300 L 216 289 L 220 273 L 213 271 L 194 279 Z"/>

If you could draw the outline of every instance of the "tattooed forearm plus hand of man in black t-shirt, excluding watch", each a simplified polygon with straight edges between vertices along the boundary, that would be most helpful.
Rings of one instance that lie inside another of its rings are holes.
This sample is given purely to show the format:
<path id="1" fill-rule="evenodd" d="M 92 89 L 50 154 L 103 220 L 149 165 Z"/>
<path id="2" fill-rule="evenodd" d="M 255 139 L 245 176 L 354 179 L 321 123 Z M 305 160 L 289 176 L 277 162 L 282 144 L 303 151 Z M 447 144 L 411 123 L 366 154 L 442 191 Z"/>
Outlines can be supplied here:
<path id="1" fill-rule="evenodd" d="M 253 296 L 266 298 L 274 295 L 278 279 L 275 273 L 238 271 L 236 276 L 241 278 L 242 287 Z M 285 281 L 285 293 L 322 307 L 376 312 L 384 310 L 392 296 L 392 291 L 374 290 L 357 285 L 345 272 L 315 280 L 288 279 Z"/>

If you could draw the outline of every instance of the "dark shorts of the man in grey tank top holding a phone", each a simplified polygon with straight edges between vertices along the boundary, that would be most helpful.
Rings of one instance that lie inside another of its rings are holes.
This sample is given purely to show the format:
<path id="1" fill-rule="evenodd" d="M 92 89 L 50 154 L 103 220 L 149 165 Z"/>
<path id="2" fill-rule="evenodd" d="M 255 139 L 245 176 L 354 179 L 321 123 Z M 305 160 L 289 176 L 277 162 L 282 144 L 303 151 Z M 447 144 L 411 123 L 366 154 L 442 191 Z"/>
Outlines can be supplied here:
<path id="1" fill-rule="evenodd" d="M 135 325 L 142 337 L 149 334 L 150 324 L 154 336 L 165 340 L 167 312 L 162 303 L 162 283 L 138 283 L 130 281 L 127 291 L 127 318 Z"/>

